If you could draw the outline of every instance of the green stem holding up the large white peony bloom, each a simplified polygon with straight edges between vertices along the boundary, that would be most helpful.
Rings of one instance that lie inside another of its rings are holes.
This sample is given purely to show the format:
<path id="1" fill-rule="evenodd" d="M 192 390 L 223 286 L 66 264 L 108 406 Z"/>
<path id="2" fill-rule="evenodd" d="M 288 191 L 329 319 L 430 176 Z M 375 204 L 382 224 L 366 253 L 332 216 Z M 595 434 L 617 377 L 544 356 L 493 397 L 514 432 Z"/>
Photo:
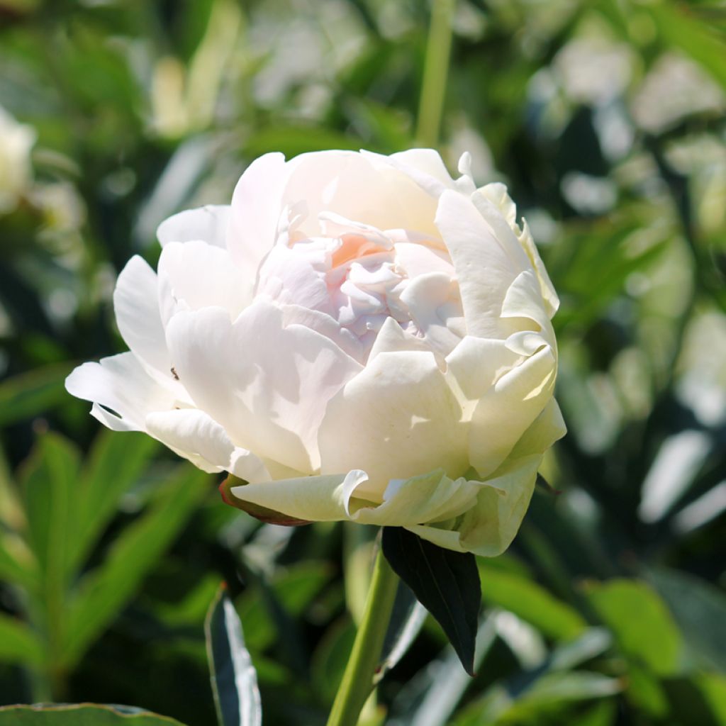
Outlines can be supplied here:
<path id="1" fill-rule="evenodd" d="M 363 619 L 340 681 L 327 726 L 356 726 L 358 715 L 373 690 L 373 674 L 380 661 L 383 639 L 396 599 L 397 578 L 378 550 Z"/>

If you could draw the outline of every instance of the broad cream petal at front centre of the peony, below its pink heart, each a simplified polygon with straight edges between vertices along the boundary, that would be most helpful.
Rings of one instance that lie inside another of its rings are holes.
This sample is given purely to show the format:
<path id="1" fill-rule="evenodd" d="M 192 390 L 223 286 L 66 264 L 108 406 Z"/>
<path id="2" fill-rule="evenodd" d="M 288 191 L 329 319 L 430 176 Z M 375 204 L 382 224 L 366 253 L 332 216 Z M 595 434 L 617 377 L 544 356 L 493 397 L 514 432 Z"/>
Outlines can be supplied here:
<path id="1" fill-rule="evenodd" d="M 327 406 L 322 473 L 365 470 L 359 496 L 380 502 L 391 479 L 468 468 L 462 410 L 431 353 L 380 353 Z"/>

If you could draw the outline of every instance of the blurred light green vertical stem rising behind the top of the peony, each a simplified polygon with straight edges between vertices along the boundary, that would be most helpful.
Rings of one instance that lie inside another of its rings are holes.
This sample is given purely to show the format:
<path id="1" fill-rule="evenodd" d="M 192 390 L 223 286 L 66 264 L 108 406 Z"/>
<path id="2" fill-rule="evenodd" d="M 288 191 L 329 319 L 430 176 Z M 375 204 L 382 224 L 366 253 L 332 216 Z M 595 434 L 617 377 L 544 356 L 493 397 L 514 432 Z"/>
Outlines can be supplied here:
<path id="1" fill-rule="evenodd" d="M 433 0 L 431 8 L 416 128 L 417 143 L 425 147 L 436 147 L 439 142 L 446 76 L 449 73 L 454 4 L 455 0 Z"/>

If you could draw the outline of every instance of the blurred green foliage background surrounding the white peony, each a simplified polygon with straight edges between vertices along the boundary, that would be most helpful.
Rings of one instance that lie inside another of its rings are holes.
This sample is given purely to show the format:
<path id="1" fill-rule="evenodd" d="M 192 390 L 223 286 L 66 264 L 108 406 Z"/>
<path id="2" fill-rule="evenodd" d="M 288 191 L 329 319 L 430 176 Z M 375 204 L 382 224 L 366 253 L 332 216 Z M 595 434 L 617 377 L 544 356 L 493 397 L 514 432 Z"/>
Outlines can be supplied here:
<path id="1" fill-rule="evenodd" d="M 227 203 L 267 151 L 436 142 L 441 108 L 449 167 L 469 150 L 509 185 L 562 298 L 569 434 L 543 470 L 560 493 L 480 560 L 477 677 L 429 620 L 367 722 L 726 724 L 726 6 L 458 0 L 443 105 L 417 118 L 430 12 L 0 0 L 0 704 L 213 723 L 226 579 L 265 725 L 325 723 L 375 533 L 225 507 L 62 380 L 125 349 L 115 275 L 155 264 L 166 216 Z"/>

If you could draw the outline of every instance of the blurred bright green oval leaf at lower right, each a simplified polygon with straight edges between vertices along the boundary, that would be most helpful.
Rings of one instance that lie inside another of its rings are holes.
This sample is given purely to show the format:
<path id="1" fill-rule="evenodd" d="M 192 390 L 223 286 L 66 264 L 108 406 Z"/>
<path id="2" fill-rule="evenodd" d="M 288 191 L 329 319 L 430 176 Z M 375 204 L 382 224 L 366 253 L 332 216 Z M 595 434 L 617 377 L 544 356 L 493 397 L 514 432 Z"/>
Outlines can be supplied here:
<path id="1" fill-rule="evenodd" d="M 680 632 L 652 587 L 637 580 L 612 579 L 588 584 L 586 593 L 624 653 L 660 675 L 677 670 Z"/>

